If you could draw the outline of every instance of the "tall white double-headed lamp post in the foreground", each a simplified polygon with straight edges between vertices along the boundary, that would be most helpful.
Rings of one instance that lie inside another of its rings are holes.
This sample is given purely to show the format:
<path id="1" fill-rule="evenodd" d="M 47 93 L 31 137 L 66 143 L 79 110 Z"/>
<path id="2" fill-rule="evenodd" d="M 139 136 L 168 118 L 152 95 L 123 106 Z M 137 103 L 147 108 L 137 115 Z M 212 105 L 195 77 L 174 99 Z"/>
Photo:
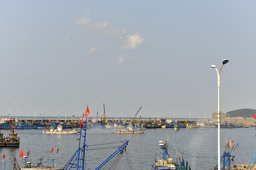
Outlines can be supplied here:
<path id="1" fill-rule="evenodd" d="M 220 67 L 220 70 L 216 68 L 216 65 L 211 65 L 212 68 L 215 68 L 217 72 L 217 87 L 218 87 L 218 170 L 220 170 L 220 71 L 224 64 L 227 64 L 228 60 L 224 59 L 222 61 L 222 66 Z"/>

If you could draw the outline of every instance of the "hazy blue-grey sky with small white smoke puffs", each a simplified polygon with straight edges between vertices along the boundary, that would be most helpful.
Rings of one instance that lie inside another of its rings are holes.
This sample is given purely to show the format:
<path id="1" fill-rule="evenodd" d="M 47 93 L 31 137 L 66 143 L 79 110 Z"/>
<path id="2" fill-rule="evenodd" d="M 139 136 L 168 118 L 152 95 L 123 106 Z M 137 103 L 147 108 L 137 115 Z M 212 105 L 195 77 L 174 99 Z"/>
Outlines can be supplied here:
<path id="1" fill-rule="evenodd" d="M 211 65 L 224 59 L 220 111 L 256 109 L 255 9 L 254 0 L 0 0 L 0 116 L 81 116 L 88 105 L 96 117 L 105 105 L 106 117 L 142 107 L 137 118 L 209 119 Z"/>

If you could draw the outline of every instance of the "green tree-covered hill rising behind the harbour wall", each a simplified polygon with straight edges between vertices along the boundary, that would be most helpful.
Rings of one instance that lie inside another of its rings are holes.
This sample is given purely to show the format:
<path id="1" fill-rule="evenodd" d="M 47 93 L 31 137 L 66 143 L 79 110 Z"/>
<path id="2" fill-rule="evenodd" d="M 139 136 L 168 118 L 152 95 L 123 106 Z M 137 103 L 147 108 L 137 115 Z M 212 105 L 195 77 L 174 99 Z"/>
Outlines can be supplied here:
<path id="1" fill-rule="evenodd" d="M 227 112 L 225 115 L 226 117 L 244 117 L 244 119 L 247 118 L 253 118 L 252 116 L 256 113 L 256 109 L 238 109 Z M 254 118 L 253 118 L 254 119 Z"/>

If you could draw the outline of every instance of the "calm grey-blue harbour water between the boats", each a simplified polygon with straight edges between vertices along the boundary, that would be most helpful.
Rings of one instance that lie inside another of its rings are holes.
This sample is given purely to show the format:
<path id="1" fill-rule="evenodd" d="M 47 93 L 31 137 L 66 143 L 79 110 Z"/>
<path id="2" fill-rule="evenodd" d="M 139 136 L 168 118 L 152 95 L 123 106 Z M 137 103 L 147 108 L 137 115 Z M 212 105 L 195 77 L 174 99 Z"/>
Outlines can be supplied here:
<path id="1" fill-rule="evenodd" d="M 9 130 L 2 129 L 4 136 L 7 137 Z M 178 146 L 179 156 L 182 157 L 184 151 L 185 162 L 192 170 L 210 170 L 217 165 L 217 128 L 180 128 L 174 131 L 167 129 L 146 129 L 144 134 L 115 134 L 114 129 L 88 129 L 86 135 L 86 144 L 88 149 L 102 148 L 102 146 L 90 146 L 102 143 L 129 140 L 128 149 L 130 160 L 134 169 L 149 170 L 151 164 L 154 164 L 156 153 L 162 154 L 159 149 L 159 140 L 165 141 L 166 135 L 169 136 L 169 154 L 173 160 L 176 160 L 176 151 L 173 146 Z M 10 169 L 13 157 L 16 157 L 19 165 L 22 165 L 22 158 L 19 158 L 20 148 L 26 155 L 28 148 L 30 150 L 29 159 L 32 165 L 36 165 L 38 160 L 43 157 L 43 165 L 48 166 L 52 153 L 49 153 L 53 147 L 54 164 L 56 168 L 63 168 L 70 157 L 77 150 L 79 134 L 42 134 L 42 129 L 16 129 L 20 137 L 19 148 L 0 148 L 0 169 L 2 169 L 4 159 L 2 156 L 6 153 L 6 169 Z M 220 129 L 220 152 L 225 150 L 226 139 L 234 140 L 239 143 L 235 163 L 249 163 L 252 154 L 256 149 L 256 130 L 254 128 L 235 128 Z M 115 146 L 115 145 L 113 145 Z M 58 157 L 56 151 L 59 148 Z M 88 150 L 86 158 L 86 170 L 96 168 L 116 149 Z M 20 162 L 19 162 L 20 161 Z M 125 161 L 121 161 L 116 169 L 129 169 Z"/>

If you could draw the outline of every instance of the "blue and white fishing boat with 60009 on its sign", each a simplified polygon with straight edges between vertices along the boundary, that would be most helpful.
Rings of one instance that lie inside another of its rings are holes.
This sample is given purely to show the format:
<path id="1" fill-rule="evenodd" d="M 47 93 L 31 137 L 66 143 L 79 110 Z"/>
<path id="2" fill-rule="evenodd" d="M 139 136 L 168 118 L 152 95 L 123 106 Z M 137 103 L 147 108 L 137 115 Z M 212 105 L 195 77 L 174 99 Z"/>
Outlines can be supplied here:
<path id="1" fill-rule="evenodd" d="M 169 137 L 168 137 L 169 138 Z M 182 161 L 179 158 L 179 163 L 178 163 L 178 157 L 177 157 L 177 161 L 173 162 L 173 159 L 170 158 L 169 154 L 168 154 L 168 139 L 166 138 L 166 141 L 159 141 L 159 147 L 160 149 L 163 149 L 164 154 L 161 159 L 158 159 L 158 155 L 156 155 L 156 160 L 154 165 L 151 165 L 151 170 L 159 170 L 159 169 L 168 169 L 168 170 L 176 170 L 176 169 L 186 169 L 185 163 L 184 163 L 184 159 L 182 158 Z M 177 152 L 177 156 L 178 156 L 178 151 Z"/>

